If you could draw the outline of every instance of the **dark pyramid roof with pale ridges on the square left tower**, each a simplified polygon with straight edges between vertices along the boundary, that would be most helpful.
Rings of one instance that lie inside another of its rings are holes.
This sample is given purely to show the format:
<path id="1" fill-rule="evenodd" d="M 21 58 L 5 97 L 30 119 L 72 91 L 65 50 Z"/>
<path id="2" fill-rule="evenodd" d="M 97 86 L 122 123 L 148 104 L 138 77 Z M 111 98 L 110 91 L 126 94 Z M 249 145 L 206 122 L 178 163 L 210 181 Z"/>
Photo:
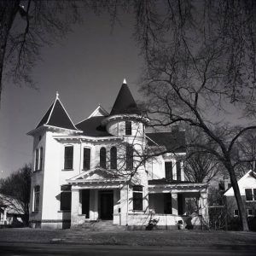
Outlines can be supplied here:
<path id="1" fill-rule="evenodd" d="M 68 130 L 78 131 L 76 126 L 70 119 L 66 109 L 63 107 L 58 93 L 56 94 L 55 102 L 51 104 L 47 112 L 44 114 L 43 119 L 39 122 L 36 129 L 42 125 L 50 125 Z"/>

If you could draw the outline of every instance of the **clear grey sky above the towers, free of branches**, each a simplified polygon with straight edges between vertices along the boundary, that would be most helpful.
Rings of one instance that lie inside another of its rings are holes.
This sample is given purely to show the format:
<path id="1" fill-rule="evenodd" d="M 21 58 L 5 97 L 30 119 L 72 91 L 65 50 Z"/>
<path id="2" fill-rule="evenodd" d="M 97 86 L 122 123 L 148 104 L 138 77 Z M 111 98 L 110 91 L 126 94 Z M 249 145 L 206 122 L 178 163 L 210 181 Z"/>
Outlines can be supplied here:
<path id="1" fill-rule="evenodd" d="M 134 39 L 131 16 L 122 15 L 111 33 L 108 15 L 86 15 L 82 25 L 51 47 L 42 50 L 32 75 L 38 90 L 6 83 L 0 111 L 0 177 L 7 177 L 32 160 L 32 137 L 38 124 L 60 93 L 74 123 L 98 106 L 110 111 L 123 79 L 140 99 L 138 79 L 143 59 Z"/>

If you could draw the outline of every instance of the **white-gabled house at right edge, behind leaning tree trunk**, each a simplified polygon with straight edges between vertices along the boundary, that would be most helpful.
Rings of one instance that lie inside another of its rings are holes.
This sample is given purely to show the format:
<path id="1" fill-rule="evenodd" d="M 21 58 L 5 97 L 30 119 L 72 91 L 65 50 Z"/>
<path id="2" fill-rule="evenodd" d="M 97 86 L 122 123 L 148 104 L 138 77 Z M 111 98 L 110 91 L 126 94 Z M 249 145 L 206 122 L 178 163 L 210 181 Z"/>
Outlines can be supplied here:
<path id="1" fill-rule="evenodd" d="M 248 217 L 256 216 L 256 172 L 249 171 L 237 182 L 241 200 L 243 201 Z M 226 197 L 228 211 L 230 216 L 238 217 L 238 208 L 236 198 L 232 187 L 228 189 L 224 196 Z"/>

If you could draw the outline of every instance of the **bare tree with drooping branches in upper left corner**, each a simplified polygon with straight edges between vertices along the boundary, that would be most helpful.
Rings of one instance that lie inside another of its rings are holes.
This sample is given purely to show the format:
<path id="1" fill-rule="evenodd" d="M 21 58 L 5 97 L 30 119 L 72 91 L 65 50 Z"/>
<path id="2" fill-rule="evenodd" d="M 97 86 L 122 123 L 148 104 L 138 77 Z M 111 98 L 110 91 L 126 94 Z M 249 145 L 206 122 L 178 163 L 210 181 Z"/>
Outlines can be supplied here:
<path id="1" fill-rule="evenodd" d="M 113 0 L 0 0 L 0 102 L 3 78 L 35 87 L 32 67 L 45 45 L 61 42 L 90 11 L 117 20 L 118 1 Z M 125 8 L 125 1 L 119 1 Z M 82 13 L 83 12 L 83 13 Z"/>

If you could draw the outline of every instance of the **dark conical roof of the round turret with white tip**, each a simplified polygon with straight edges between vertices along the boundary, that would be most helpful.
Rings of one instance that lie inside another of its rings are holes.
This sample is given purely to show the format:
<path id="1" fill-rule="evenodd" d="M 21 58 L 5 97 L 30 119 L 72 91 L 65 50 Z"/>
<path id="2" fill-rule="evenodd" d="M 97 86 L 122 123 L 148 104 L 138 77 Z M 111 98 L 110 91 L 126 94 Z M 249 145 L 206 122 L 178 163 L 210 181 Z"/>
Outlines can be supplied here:
<path id="1" fill-rule="evenodd" d="M 126 80 L 124 80 L 121 89 L 119 90 L 119 94 L 113 104 L 110 115 L 124 113 L 140 113 L 137 108 L 137 103 L 134 101 L 131 91 L 126 84 Z"/>

